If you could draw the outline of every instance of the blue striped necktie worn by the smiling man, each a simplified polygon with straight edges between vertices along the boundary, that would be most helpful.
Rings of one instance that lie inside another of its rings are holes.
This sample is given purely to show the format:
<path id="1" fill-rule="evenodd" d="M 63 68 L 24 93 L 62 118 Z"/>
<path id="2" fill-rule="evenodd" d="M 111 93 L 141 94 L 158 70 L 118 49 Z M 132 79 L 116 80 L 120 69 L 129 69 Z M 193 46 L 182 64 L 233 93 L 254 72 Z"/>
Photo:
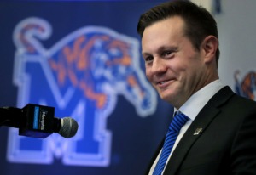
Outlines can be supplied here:
<path id="1" fill-rule="evenodd" d="M 157 162 L 153 175 L 160 175 L 166 165 L 166 160 L 168 159 L 172 147 L 177 139 L 177 135 L 183 125 L 189 120 L 188 116 L 185 116 L 183 113 L 177 113 L 169 126 L 168 132 L 166 134 L 165 144 L 163 146 L 160 159 Z"/>

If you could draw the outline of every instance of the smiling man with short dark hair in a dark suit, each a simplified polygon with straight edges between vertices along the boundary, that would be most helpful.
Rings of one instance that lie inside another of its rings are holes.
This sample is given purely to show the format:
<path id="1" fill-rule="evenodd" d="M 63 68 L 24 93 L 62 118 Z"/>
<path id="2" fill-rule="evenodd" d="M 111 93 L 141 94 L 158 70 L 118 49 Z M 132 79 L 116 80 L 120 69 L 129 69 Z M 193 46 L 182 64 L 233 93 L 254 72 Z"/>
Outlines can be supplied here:
<path id="1" fill-rule="evenodd" d="M 140 17 L 137 31 L 148 80 L 188 117 L 164 167 L 161 144 L 149 174 L 256 174 L 256 103 L 220 82 L 212 15 L 189 1 L 163 3 Z"/>

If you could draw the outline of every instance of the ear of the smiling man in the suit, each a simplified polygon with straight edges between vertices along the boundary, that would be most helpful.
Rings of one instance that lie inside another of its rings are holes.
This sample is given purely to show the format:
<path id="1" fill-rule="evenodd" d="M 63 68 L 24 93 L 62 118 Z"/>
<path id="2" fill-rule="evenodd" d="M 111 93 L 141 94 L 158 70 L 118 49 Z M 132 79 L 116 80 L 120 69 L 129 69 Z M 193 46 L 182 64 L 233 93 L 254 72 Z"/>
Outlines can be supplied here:
<path id="1" fill-rule="evenodd" d="M 216 59 L 216 51 L 218 49 L 218 38 L 214 36 L 207 36 L 202 44 L 201 48 L 205 57 L 206 63 L 211 62 L 212 59 Z"/>

